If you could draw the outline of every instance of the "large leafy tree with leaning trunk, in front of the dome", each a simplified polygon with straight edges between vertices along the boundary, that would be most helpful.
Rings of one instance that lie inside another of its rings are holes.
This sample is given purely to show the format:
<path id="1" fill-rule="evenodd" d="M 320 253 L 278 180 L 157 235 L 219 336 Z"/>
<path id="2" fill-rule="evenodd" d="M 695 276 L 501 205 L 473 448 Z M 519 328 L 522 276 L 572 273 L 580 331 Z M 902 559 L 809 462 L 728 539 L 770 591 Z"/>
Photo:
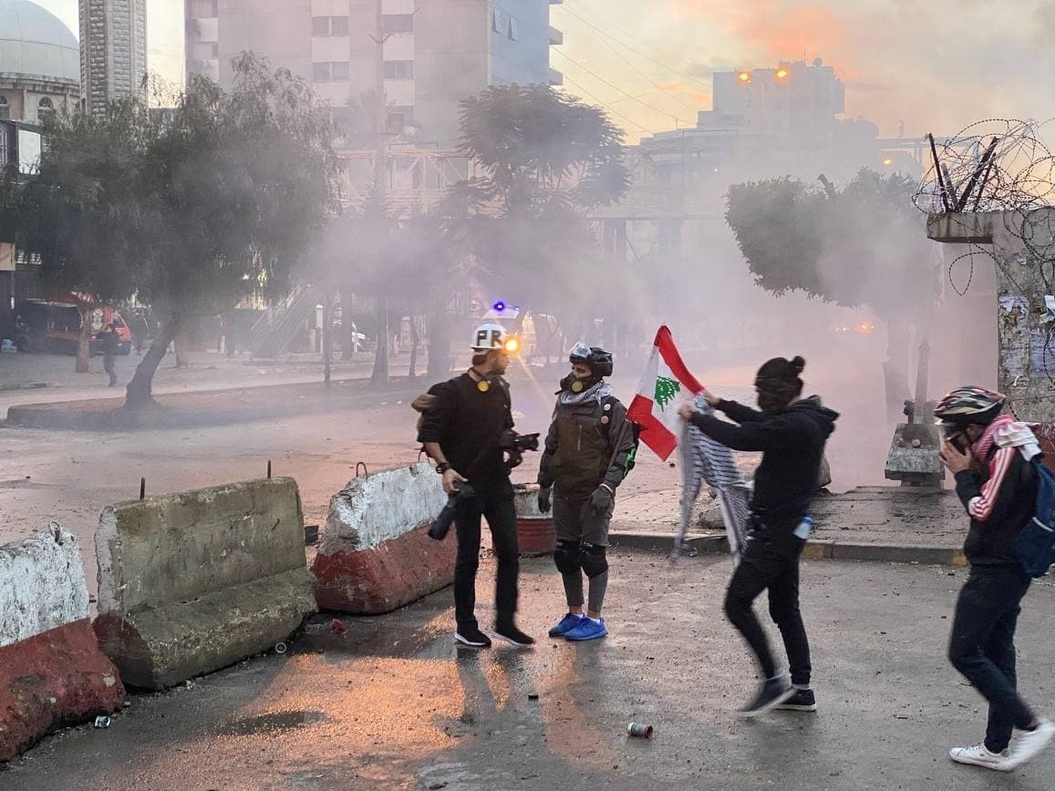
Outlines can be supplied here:
<path id="1" fill-rule="evenodd" d="M 130 410 L 152 403 L 154 372 L 192 319 L 288 290 L 330 201 L 329 119 L 307 84 L 248 54 L 234 72 L 229 93 L 192 77 L 164 113 L 119 103 L 101 120 L 56 119 L 39 174 L 9 201 L 45 282 L 134 293 L 160 317 Z"/>

